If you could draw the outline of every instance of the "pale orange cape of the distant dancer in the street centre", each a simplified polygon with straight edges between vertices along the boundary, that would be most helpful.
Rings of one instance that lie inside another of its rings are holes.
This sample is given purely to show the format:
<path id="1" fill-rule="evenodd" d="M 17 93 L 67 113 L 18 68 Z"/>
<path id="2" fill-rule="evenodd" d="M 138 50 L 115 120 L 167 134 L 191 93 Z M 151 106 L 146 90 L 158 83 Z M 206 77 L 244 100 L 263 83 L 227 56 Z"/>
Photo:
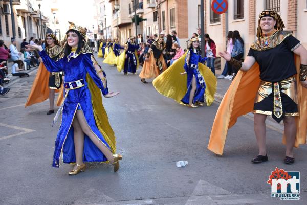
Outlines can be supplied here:
<path id="1" fill-rule="evenodd" d="M 162 72 L 167 70 L 167 65 L 165 63 L 165 60 L 163 58 L 163 55 L 161 54 L 159 60 L 162 62 Z M 153 57 L 153 51 L 150 52 L 148 61 L 145 61 L 142 67 L 142 71 L 140 73 L 140 78 L 156 78 L 159 76 L 160 70 L 156 64 L 155 58 Z"/>

